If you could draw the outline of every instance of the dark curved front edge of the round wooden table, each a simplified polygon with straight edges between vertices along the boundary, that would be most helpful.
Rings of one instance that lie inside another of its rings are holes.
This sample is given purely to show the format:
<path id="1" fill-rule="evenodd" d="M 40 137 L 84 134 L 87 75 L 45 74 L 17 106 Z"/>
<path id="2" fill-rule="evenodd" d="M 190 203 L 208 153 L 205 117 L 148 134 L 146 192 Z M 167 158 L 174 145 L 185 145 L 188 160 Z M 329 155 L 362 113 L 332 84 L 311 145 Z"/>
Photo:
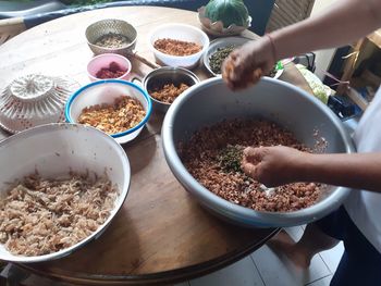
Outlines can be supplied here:
<path id="1" fill-rule="evenodd" d="M 83 277 L 74 277 L 71 273 L 46 273 L 34 268 L 29 268 L 28 264 L 15 263 L 15 265 L 22 270 L 26 270 L 33 274 L 51 278 L 54 281 L 62 281 L 66 283 L 74 283 L 77 285 L 147 285 L 147 284 L 172 284 L 181 283 L 187 279 L 197 278 L 206 274 L 212 273 L 220 269 L 237 262 L 238 260 L 247 257 L 255 250 L 262 247 L 271 237 L 276 235 L 281 231 L 280 227 L 273 228 L 273 231 L 263 238 L 259 244 L 250 245 L 245 249 L 239 249 L 230 252 L 218 259 L 209 260 L 197 265 L 190 265 L 182 269 L 163 271 L 152 274 L 143 275 L 125 275 L 125 276 L 106 276 L 106 275 L 88 275 Z"/>

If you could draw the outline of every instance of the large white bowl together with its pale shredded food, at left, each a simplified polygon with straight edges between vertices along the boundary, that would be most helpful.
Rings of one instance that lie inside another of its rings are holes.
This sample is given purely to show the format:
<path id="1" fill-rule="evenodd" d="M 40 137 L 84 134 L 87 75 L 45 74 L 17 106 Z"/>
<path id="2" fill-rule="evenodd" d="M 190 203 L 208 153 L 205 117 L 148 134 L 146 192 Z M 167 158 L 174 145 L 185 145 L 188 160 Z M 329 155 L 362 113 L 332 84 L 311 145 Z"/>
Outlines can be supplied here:
<path id="1" fill-rule="evenodd" d="M 122 208 L 131 169 L 105 133 L 57 123 L 0 142 L 0 260 L 40 262 L 99 237 Z"/>

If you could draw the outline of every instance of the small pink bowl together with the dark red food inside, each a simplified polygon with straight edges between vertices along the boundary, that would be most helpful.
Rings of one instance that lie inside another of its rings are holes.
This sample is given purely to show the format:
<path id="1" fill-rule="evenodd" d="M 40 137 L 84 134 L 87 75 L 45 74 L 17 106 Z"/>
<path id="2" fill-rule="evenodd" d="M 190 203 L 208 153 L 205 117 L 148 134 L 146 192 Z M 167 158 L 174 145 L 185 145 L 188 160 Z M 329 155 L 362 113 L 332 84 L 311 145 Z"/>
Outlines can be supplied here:
<path id="1" fill-rule="evenodd" d="M 102 53 L 88 62 L 87 75 L 91 82 L 109 78 L 127 80 L 131 69 L 127 58 L 116 53 Z"/>

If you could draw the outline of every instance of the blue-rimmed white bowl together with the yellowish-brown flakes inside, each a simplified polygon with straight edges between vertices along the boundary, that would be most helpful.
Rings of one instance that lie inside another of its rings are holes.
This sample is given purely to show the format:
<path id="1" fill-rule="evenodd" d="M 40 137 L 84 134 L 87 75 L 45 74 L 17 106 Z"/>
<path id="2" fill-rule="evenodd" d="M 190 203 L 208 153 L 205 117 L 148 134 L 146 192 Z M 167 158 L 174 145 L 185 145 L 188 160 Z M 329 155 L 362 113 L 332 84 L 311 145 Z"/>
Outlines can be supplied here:
<path id="1" fill-rule="evenodd" d="M 75 91 L 65 105 L 67 122 L 96 127 L 119 144 L 136 138 L 151 114 L 152 103 L 139 86 L 105 79 Z"/>

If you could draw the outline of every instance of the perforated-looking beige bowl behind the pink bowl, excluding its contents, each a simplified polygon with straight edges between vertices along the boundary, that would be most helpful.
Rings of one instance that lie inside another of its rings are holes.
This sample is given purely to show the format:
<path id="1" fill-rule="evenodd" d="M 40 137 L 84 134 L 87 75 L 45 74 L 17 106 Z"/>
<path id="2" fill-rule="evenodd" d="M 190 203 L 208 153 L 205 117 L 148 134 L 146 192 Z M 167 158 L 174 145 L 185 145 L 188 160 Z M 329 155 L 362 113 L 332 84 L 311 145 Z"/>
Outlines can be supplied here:
<path id="1" fill-rule="evenodd" d="M 96 45 L 97 40 L 108 34 L 119 34 L 125 36 L 130 43 L 124 45 L 120 48 L 106 48 Z M 127 55 L 136 46 L 137 32 L 133 25 L 116 18 L 106 18 L 93 23 L 86 28 L 87 45 L 95 54 L 100 53 L 119 53 Z"/>

